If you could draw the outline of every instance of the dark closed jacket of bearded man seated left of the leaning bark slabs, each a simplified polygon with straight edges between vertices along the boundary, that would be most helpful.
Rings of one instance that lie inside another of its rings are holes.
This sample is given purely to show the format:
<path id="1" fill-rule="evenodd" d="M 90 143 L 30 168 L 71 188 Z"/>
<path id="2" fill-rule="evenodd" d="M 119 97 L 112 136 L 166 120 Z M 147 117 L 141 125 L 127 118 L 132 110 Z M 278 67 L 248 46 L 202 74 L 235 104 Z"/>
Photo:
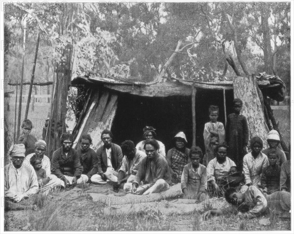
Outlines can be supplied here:
<path id="1" fill-rule="evenodd" d="M 55 150 L 51 159 L 51 173 L 61 178 L 63 175 L 80 177 L 82 174 L 82 165 L 78 153 L 71 149 L 66 156 L 62 147 Z"/>

